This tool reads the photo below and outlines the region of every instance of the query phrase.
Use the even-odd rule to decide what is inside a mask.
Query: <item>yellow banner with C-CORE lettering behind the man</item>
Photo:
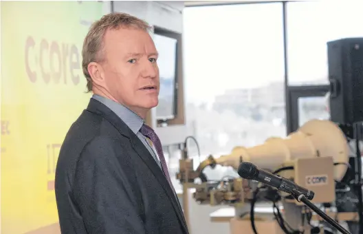
[[[53,234],[47,228],[57,226],[56,160],[90,97],[82,44],[105,4],[1,2],[2,234]]]

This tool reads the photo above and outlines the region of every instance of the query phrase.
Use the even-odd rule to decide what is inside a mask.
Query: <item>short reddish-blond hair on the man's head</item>
[[[88,92],[92,90],[92,78],[88,72],[88,65],[91,62],[99,63],[102,61],[104,34],[106,34],[107,30],[118,30],[119,28],[137,28],[148,31],[151,29],[151,26],[146,21],[126,13],[106,14],[91,25],[83,42],[82,49],[82,68],[83,74],[85,74],[87,79]]]

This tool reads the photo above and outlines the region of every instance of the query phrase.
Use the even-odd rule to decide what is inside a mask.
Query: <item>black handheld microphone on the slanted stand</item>
[[[298,196],[302,194],[305,195],[308,200],[312,200],[314,198],[313,191],[300,187],[291,180],[263,171],[251,162],[242,162],[239,165],[238,174],[241,178],[246,180],[257,180],[269,185],[270,187],[274,187],[280,191],[294,195],[295,198],[298,198]]]

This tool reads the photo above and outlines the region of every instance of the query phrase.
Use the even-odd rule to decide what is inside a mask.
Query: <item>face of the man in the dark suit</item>
[[[112,98],[137,114],[157,106],[157,50],[148,32],[128,28],[108,30],[103,52],[104,88]]]

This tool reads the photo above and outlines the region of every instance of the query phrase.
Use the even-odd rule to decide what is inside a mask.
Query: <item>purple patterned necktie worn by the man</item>
[[[153,145],[157,152],[157,156],[159,156],[159,160],[162,164],[162,169],[164,171],[166,180],[168,180],[170,187],[173,189],[173,184],[171,183],[171,180],[170,180],[168,167],[166,166],[164,152],[162,150],[162,143],[160,142],[159,137],[156,135],[155,131],[151,127],[148,127],[148,125],[145,125],[145,124],[142,125],[140,132],[142,133],[142,135],[149,138],[151,140],[151,142],[153,142]]]

